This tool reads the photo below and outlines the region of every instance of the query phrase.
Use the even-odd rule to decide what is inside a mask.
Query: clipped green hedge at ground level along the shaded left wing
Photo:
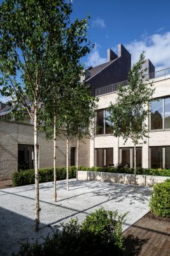
[[[56,168],[57,180],[66,179],[66,167]],[[69,167],[69,179],[76,177],[76,167]],[[34,170],[19,170],[12,174],[13,186],[24,186],[35,183]],[[53,168],[40,168],[39,169],[39,183],[53,181]]]

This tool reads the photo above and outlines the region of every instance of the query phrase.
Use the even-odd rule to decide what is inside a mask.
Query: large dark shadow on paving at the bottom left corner
[[[8,211],[0,207],[0,255],[8,256],[12,252],[18,252],[20,245],[29,241],[34,243],[36,239],[42,242],[43,237],[52,233],[52,228],[40,223],[41,232],[35,232],[34,220]]]

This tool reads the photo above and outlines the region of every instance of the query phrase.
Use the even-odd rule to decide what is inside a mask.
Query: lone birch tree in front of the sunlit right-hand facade
[[[136,145],[146,143],[148,125],[146,118],[150,114],[149,102],[154,92],[153,83],[146,79],[143,68],[145,54],[139,57],[128,74],[128,85],[118,86],[117,101],[110,104],[108,120],[111,123],[113,136],[128,139],[134,144],[134,184],[136,185]]]

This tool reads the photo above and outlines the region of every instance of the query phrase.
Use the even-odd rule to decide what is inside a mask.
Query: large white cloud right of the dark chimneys
[[[132,54],[132,63],[138,61],[139,54],[145,51],[146,58],[152,61],[156,70],[170,67],[170,32],[142,36],[141,40],[134,40],[125,47]]]

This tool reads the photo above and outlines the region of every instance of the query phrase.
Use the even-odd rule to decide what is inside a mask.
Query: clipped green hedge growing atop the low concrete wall
[[[84,167],[80,166],[78,170],[89,172],[111,172],[111,173],[129,173],[134,174],[134,168],[124,167]],[[153,175],[153,176],[167,176],[170,177],[170,169],[150,169],[150,168],[137,168],[136,174]]]

